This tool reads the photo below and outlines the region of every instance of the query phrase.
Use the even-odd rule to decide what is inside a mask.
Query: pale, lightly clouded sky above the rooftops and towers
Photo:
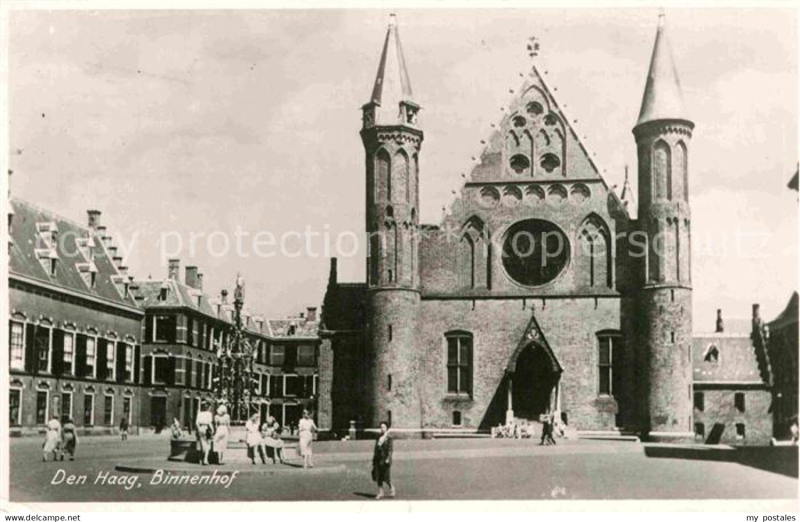
[[[422,104],[422,223],[438,223],[522,85],[531,36],[537,67],[607,182],[621,187],[626,165],[634,174],[631,128],[658,10],[396,12]],[[324,235],[332,254],[336,238],[352,251],[352,235],[363,237],[359,109],[389,13],[13,11],[11,191],[79,222],[101,210],[138,279],[165,277],[175,256],[200,267],[212,294],[241,272],[248,307],[263,315],[318,306]],[[694,329],[712,329],[717,308],[747,318],[751,303],[771,319],[798,286],[798,195],[786,188],[798,162],[796,12],[668,9],[666,20],[696,125]],[[252,243],[306,227],[318,236],[299,256]],[[224,238],[231,249],[219,255]],[[301,250],[303,239],[285,238],[291,254]],[[366,251],[342,251],[339,279],[363,281]]]

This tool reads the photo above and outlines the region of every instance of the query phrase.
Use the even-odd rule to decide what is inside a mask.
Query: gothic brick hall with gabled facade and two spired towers
[[[370,99],[366,283],[331,271],[324,417],[336,431],[572,428],[691,440],[687,159],[694,123],[659,20],[638,121],[638,218],[534,66],[439,225],[419,223],[420,106],[394,19]],[[325,375],[325,374],[328,375]],[[328,427],[326,426],[326,427]]]

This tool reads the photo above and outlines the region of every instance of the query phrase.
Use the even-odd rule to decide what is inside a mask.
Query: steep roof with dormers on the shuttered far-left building
[[[118,271],[97,231],[20,199],[11,199],[10,205],[14,211],[9,256],[12,277],[18,275],[78,294],[136,306],[133,297],[125,295],[127,276]],[[49,259],[57,259],[55,275],[50,274]],[[94,287],[90,283],[91,272]]]

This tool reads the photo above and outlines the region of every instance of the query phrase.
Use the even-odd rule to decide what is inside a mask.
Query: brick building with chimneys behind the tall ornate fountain
[[[142,423],[156,432],[174,419],[192,431],[201,404],[214,403],[217,348],[226,343],[234,326],[228,292],[206,294],[197,267],[187,266],[183,279],[179,271],[180,261],[170,259],[166,279],[137,283],[138,303],[146,314]],[[242,327],[257,352],[254,402],[262,418],[273,415],[286,425],[299,420],[302,408],[314,408],[317,325],[316,308],[287,319],[242,311]]]

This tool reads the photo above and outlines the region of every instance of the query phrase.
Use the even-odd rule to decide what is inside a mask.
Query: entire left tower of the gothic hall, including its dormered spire
[[[370,101],[362,107],[366,152],[366,428],[388,420],[421,427],[415,335],[419,319],[419,106],[390,15]]]

